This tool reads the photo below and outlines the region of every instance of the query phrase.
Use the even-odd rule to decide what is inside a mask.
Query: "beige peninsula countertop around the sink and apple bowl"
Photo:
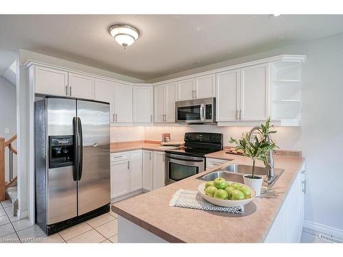
[[[223,153],[217,154],[223,156]],[[244,156],[226,154],[225,157],[232,160],[226,164],[251,165],[251,160]],[[178,189],[197,190],[198,185],[202,183],[196,179],[200,174],[121,201],[112,209],[121,217],[169,242],[263,242],[304,162],[303,158],[281,155],[275,155],[274,160],[275,167],[285,169],[285,172],[269,193],[256,197],[245,206],[243,215],[169,207],[171,195]],[[263,164],[257,162],[257,166]],[[201,175],[211,171],[213,169],[204,171]]]

